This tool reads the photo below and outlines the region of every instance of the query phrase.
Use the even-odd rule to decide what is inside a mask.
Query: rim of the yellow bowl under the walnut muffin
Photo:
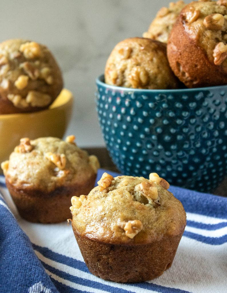
[[[56,100],[60,97],[60,96],[65,96],[65,100],[63,101],[63,103],[61,103],[58,106],[54,106],[54,103],[56,102]],[[44,110],[40,110],[40,111],[35,111],[35,112],[27,112],[27,113],[12,113],[12,114],[1,114],[0,115],[0,120],[5,120],[5,119],[16,119],[21,117],[21,115],[23,116],[29,116],[29,115],[35,115],[38,113],[45,113],[45,112],[49,112],[49,111],[54,111],[56,109],[62,108],[65,105],[67,105],[73,98],[73,94],[71,91],[69,91],[66,88],[62,88],[60,94],[57,96],[57,98],[52,102],[52,104],[50,104],[50,106],[47,109]]]

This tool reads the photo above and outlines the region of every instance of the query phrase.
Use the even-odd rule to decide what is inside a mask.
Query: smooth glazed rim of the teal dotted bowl
[[[227,84],[222,86],[207,86],[203,88],[175,88],[175,89],[141,89],[141,88],[125,88],[122,86],[112,86],[106,84],[104,82],[104,74],[101,74],[99,77],[96,78],[96,84],[99,86],[108,87],[110,89],[118,90],[118,91],[128,91],[128,92],[144,92],[144,93],[188,93],[188,92],[195,92],[195,91],[210,91],[210,90],[217,90],[225,88],[227,90]]]

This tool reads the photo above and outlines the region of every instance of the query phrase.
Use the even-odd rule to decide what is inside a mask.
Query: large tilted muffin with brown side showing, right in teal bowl
[[[167,55],[189,88],[227,84],[227,1],[185,6],[170,33]]]

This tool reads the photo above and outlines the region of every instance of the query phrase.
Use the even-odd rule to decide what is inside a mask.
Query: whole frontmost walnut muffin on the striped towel
[[[142,282],[170,268],[186,225],[184,208],[156,173],[104,173],[89,195],[72,197],[72,229],[90,272]]]

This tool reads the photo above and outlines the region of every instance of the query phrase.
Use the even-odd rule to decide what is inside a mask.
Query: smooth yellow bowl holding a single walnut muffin
[[[46,110],[0,115],[0,163],[9,159],[9,155],[22,137],[62,138],[70,121],[72,103],[72,93],[63,89]]]

